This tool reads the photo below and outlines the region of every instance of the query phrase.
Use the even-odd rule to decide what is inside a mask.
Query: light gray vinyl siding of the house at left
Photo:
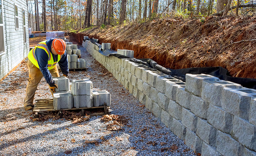
[[[17,66],[29,52],[28,10],[26,0],[2,0],[5,53],[0,55],[0,79]],[[14,5],[18,6],[19,29],[15,29]],[[26,39],[24,44],[23,14],[25,10]]]

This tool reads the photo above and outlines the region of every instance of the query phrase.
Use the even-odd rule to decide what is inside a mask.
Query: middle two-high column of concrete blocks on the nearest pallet
[[[88,79],[72,80],[71,93],[74,97],[74,107],[88,107],[93,106],[92,82]]]

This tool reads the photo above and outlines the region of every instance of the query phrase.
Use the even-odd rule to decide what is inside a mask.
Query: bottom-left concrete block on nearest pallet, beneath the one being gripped
[[[53,107],[55,110],[71,109],[73,107],[73,97],[70,94],[70,92],[54,93],[53,94]]]

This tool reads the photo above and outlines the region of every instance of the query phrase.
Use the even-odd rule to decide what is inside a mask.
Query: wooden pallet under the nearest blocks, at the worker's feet
[[[104,113],[89,114],[90,116],[97,116],[97,115],[108,114],[108,109],[109,109],[109,107],[107,107],[107,106],[99,106],[99,107],[91,107],[91,108],[81,107],[81,108],[55,110],[53,107],[53,99],[37,99],[35,101],[36,101],[36,103],[34,105],[33,112],[35,112],[36,118],[38,118],[38,113],[49,115],[50,113],[48,113],[48,112],[52,112],[52,111],[59,111],[57,116],[60,115],[60,117],[62,117],[62,110],[81,110],[82,115],[85,115],[85,109],[99,109],[100,108],[100,109],[104,110]]]

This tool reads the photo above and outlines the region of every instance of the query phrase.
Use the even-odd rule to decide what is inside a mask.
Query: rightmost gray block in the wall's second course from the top
[[[256,151],[256,126],[248,120],[234,116],[231,136],[245,147]]]

